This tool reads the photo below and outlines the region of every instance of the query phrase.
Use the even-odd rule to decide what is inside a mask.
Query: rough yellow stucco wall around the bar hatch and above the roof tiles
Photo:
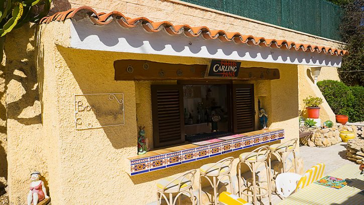
[[[119,10],[130,17],[147,16],[153,20],[167,19],[173,23],[191,25],[201,25],[203,22],[211,28],[267,38],[334,47],[340,45],[171,1],[68,2],[55,3],[57,5],[53,11],[87,4],[99,11]],[[137,125],[145,124],[147,135],[152,134],[149,82],[114,81],[113,61],[145,59],[207,64],[208,59],[67,48],[69,23],[67,20],[41,25],[35,37],[34,26],[25,26],[7,36],[7,76],[5,85],[2,83],[8,89],[8,184],[12,203],[24,204],[30,182],[29,173],[34,169],[40,170],[48,181],[52,204],[114,204],[115,201],[118,204],[145,204],[156,200],[155,184],[160,178],[199,168],[204,163],[217,161],[227,155],[238,157],[239,153],[230,153],[190,162],[187,166],[129,176],[127,172],[130,165],[126,157],[137,153]],[[256,97],[261,98],[262,106],[269,114],[269,127],[285,128],[285,140],[298,137],[298,109],[305,95],[300,90],[307,89],[306,85],[301,86],[301,82],[307,81],[302,78],[304,75],[301,71],[304,70],[298,69],[296,65],[273,63],[243,62],[242,66],[280,69],[280,79],[252,83],[256,85]],[[105,92],[124,92],[126,124],[75,130],[73,94]],[[2,96],[4,102],[4,92]],[[4,127],[4,122],[0,126]],[[6,135],[0,132],[3,133],[0,139],[3,140],[3,146],[6,144]],[[237,159],[234,160],[234,166],[236,163]],[[233,171],[232,174],[235,173]],[[197,188],[196,184],[194,188]]]

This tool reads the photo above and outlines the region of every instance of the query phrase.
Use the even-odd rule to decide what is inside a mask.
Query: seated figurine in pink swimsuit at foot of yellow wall
[[[47,195],[46,187],[44,182],[40,179],[41,173],[39,171],[34,171],[30,174],[32,182],[30,183],[30,191],[28,194],[28,205],[38,204],[45,198],[49,198]]]

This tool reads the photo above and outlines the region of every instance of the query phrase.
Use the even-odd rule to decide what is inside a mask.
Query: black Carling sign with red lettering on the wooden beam
[[[241,62],[212,59],[206,77],[237,78]]]

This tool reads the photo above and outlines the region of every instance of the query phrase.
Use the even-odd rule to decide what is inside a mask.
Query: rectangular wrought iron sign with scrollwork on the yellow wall
[[[75,94],[74,106],[76,129],[125,124],[124,93]]]

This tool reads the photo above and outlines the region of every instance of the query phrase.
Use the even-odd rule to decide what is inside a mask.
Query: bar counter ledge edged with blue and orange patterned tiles
[[[257,130],[216,138],[205,145],[183,144],[128,157],[130,174],[136,175],[196,161],[284,138],[284,129]]]

